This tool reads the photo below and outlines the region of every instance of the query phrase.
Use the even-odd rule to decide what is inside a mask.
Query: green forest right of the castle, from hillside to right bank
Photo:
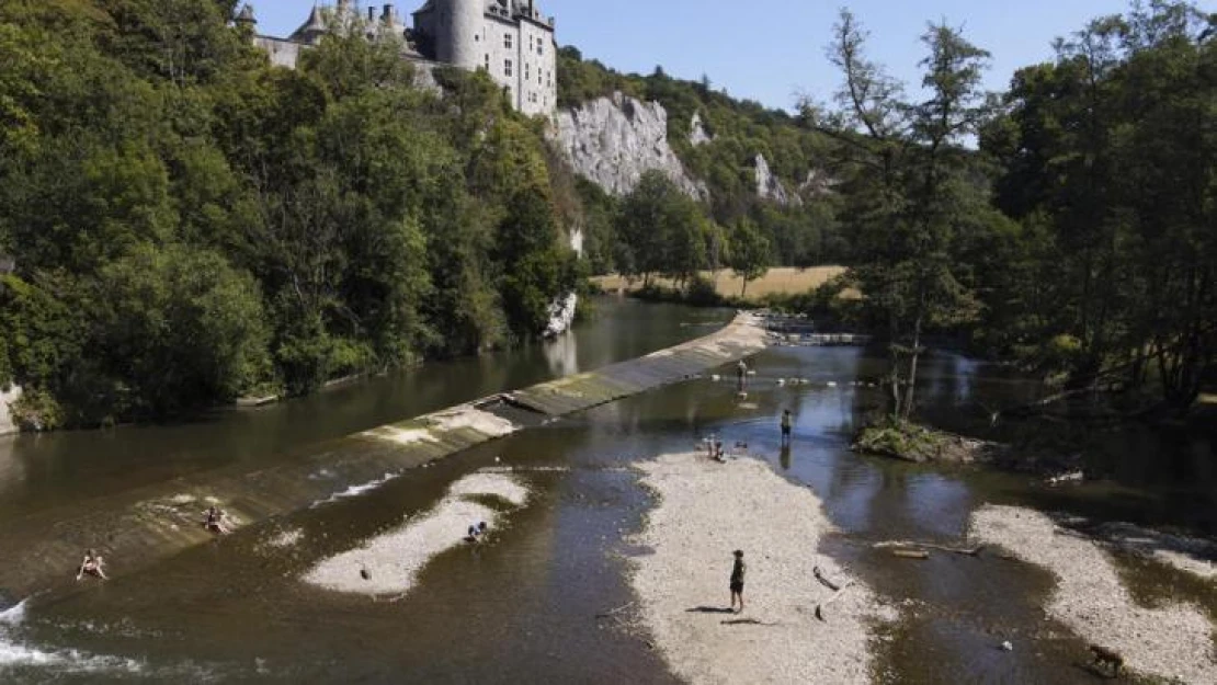
[[[690,290],[699,269],[849,266],[803,303],[847,308],[839,314],[892,341],[897,416],[915,406],[912,381],[936,335],[1066,389],[1101,382],[1184,410],[1217,383],[1215,32],[1217,15],[1190,2],[1134,2],[992,94],[981,85],[989,54],[946,21],[921,37],[921,83],[903,84],[867,56],[867,32],[845,11],[828,46],[841,88],[797,116],[733,101],[708,79],[622,75],[573,50],[561,99],[658,100],[713,196],[696,212],[650,178],[607,209],[590,198],[616,218],[601,221],[615,246],[604,263]],[[688,142],[695,112],[713,142]],[[759,201],[742,190],[757,151],[787,180],[821,172],[829,191],[801,207]],[[834,301],[846,287],[865,297]]]

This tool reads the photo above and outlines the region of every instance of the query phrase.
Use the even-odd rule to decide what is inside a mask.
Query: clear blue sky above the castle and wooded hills
[[[385,0],[377,2],[383,4]],[[871,55],[915,85],[927,21],[946,18],[993,54],[991,90],[1015,69],[1051,58],[1054,38],[1093,17],[1122,12],[1123,0],[537,0],[557,18],[557,40],[624,72],[699,79],[736,97],[789,108],[796,94],[828,100],[837,84],[824,49],[837,9],[848,6],[871,33]],[[332,0],[325,0],[331,4]],[[397,0],[413,12],[424,0]],[[286,35],[313,0],[252,0],[260,33]],[[368,2],[361,2],[366,6]],[[1205,0],[1201,6],[1215,6]]]

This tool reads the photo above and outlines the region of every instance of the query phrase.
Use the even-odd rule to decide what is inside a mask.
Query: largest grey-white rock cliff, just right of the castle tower
[[[658,102],[619,92],[584,102],[559,113],[555,137],[574,172],[610,195],[627,195],[652,169],[692,197],[708,195],[668,145],[668,113]]]

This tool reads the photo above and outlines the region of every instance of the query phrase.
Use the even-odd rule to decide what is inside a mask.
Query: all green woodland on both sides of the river
[[[1215,382],[1217,17],[1193,4],[1097,18],[1003,94],[952,24],[927,26],[902,84],[843,12],[840,92],[793,112],[562,49],[561,103],[661,102],[705,200],[660,173],[606,195],[486,74],[419,85],[391,41],[340,33],[271,68],[235,10],[0,6],[0,384],[24,387],[27,427],[514,344],[589,271],[696,293],[705,270],[846,265],[796,305],[892,341],[898,416],[940,335],[1174,409]],[[758,197],[757,155],[797,201]]]

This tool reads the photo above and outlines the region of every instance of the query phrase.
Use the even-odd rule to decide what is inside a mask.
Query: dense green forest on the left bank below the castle
[[[476,353],[576,287],[544,124],[489,78],[415,88],[398,45],[342,35],[271,68],[235,10],[0,5],[0,383],[24,386],[22,423]]]

